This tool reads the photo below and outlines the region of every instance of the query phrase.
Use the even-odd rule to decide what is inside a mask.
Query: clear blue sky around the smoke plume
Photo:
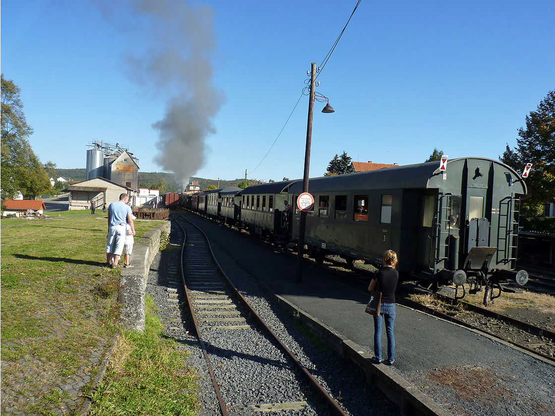
[[[171,31],[155,39],[152,16],[116,3],[1,3],[1,70],[22,90],[29,141],[43,163],[85,168],[87,144],[104,140],[129,146],[141,170],[164,170],[154,161],[162,146],[153,124],[188,86],[145,82],[128,57],[179,42]],[[210,83],[218,101],[204,163],[191,174],[302,177],[307,97],[256,166],[299,99],[310,63],[322,62],[356,1],[187,3],[213,16]],[[336,112],[315,105],[310,175],[322,175],[342,151],[401,165],[420,163],[435,147],[451,158],[497,159],[555,88],[553,22],[552,0],[362,0],[318,78],[317,92]]]

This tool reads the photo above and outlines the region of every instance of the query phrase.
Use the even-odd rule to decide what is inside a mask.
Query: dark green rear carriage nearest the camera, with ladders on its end
[[[293,201],[301,190],[300,181],[290,186]],[[502,278],[527,280],[524,271],[509,272],[516,261],[518,196],[526,185],[498,161],[454,159],[445,173],[432,162],[325,176],[311,179],[309,192],[315,204],[305,241],[317,259],[331,252],[379,265],[392,249],[405,275],[457,285],[468,277],[476,287],[486,285],[485,303]],[[294,239],[299,218],[297,210]]]

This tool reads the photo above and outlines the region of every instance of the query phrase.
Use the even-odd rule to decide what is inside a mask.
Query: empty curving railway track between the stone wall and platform
[[[186,236],[181,276],[221,414],[244,412],[247,402],[248,412],[346,415],[233,286],[204,233],[184,219],[174,221]],[[229,354],[233,365],[220,359]]]

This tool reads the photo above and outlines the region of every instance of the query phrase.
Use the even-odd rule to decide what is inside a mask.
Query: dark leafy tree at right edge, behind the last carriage
[[[542,203],[555,202],[555,90],[526,116],[526,129],[518,129],[516,147],[512,150],[507,144],[499,159],[518,173],[527,163],[533,163],[526,179],[528,195],[524,204],[528,212],[539,214]]]

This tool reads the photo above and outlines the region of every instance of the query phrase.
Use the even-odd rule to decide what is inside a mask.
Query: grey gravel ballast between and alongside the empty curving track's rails
[[[159,307],[158,314],[162,318],[166,336],[174,338],[179,348],[186,348],[190,352],[190,364],[197,369],[199,376],[199,414],[215,414],[219,413],[218,402],[198,339],[192,335],[194,328],[191,327],[191,319],[188,313],[175,307],[175,294],[179,303],[186,300],[176,267],[179,261],[179,235],[178,229],[174,228],[170,250],[155,257],[150,269],[147,293]],[[326,386],[347,413],[398,414],[395,405],[377,389],[365,383],[364,374],[359,368],[342,361],[324,346],[311,343],[305,329],[295,322],[293,316],[285,314],[275,305],[258,283],[237,266],[232,258],[217,246],[213,248],[221,266],[243,296],[266,324],[280,334],[281,341]],[[170,296],[169,293],[174,295]],[[247,317],[243,310],[241,316]],[[184,323],[180,322],[181,319]],[[273,342],[268,341],[261,329],[254,327],[203,331],[203,338],[230,414],[262,414],[260,410],[263,409],[256,406],[274,403],[292,403],[296,409],[264,414],[330,414],[322,400],[307,386],[299,371],[292,369],[289,359],[285,358]]]

